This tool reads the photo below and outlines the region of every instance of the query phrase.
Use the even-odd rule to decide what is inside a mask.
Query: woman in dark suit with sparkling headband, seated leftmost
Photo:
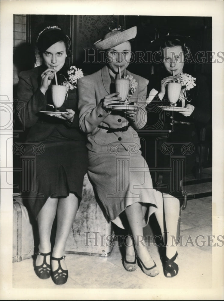
[[[56,83],[55,70],[58,85],[68,78],[66,58],[70,44],[69,37],[57,25],[44,27],[37,37],[43,64],[21,72],[18,84],[18,97],[23,102],[20,121],[29,128],[25,154],[32,155],[34,144],[41,149],[35,157],[35,172],[30,180],[34,189],[24,193],[38,223],[35,272],[41,279],[52,276],[55,284],[64,284],[68,278],[63,254],[81,201],[87,151],[78,125],[76,88],[68,90],[68,97],[60,108],[69,114],[62,114],[59,119],[54,112],[49,116],[39,111],[52,108],[49,105],[53,105],[51,85]],[[57,230],[52,248],[50,237],[56,215]]]

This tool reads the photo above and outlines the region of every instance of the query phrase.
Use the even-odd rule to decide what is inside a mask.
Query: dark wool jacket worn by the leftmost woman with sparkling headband
[[[20,108],[19,118],[25,127],[30,128],[27,141],[41,141],[51,135],[55,129],[66,138],[84,140],[84,135],[79,129],[78,124],[76,88],[73,90],[69,89],[68,98],[60,108],[61,111],[66,111],[66,109],[75,111],[72,123],[57,117],[45,115],[44,113],[39,113],[39,111],[49,110],[49,107],[46,107],[47,104],[53,104],[51,85],[45,95],[39,88],[41,84],[41,73],[46,69],[47,67],[45,65],[41,65],[28,71],[22,71],[19,74],[18,97],[20,102],[23,103]],[[60,74],[67,75],[65,67],[57,72],[58,84],[65,81],[65,78]],[[52,84],[54,84],[54,79],[52,80]]]

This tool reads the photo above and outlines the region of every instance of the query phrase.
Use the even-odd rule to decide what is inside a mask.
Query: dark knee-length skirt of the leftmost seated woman
[[[35,218],[49,197],[63,198],[74,193],[80,202],[88,167],[85,141],[68,139],[55,130],[39,142],[44,145],[44,151],[35,155],[30,189],[23,193]],[[32,144],[24,153],[24,156],[29,155],[33,155]]]

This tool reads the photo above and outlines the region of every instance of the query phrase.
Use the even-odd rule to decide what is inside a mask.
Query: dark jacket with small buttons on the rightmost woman
[[[173,120],[191,123],[191,126],[185,127],[185,135],[187,135],[187,132],[189,134],[190,131],[194,130],[195,124],[206,124],[210,120],[210,95],[208,91],[206,78],[201,74],[197,74],[194,77],[196,78],[196,86],[190,89],[189,91],[186,91],[188,101],[185,101],[185,106],[187,104],[191,104],[195,107],[192,114],[186,117],[183,116],[183,114],[176,111],[163,111],[161,108],[159,108],[159,106],[166,107],[167,105],[169,105],[167,92],[165,93],[164,98],[162,100],[160,100],[158,98],[158,95],[156,95],[151,101],[151,103],[147,106],[149,129],[158,131],[158,134],[160,131],[165,131],[169,133],[169,140],[175,138],[176,135],[179,136],[179,134],[181,134],[181,137],[179,136],[178,139],[185,139],[183,137],[183,127],[181,127],[181,133],[178,133],[180,127],[171,124]],[[153,74],[149,79],[148,91],[150,92],[152,88],[154,88],[157,91],[160,91],[162,78],[163,77],[161,76],[159,77]],[[178,101],[176,105],[177,107],[181,107],[181,101]]]

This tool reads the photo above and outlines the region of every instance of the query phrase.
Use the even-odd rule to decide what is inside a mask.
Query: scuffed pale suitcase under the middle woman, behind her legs
[[[107,257],[112,252],[113,241],[112,223],[95,197],[86,174],[82,201],[66,242],[65,253]]]

